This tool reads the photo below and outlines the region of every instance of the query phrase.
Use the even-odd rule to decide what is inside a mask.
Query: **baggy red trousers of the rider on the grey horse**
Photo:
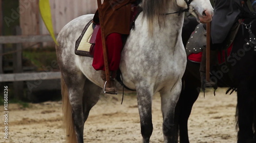
[[[119,69],[122,46],[123,45],[121,34],[112,33],[106,37],[106,49],[108,51],[110,71],[115,71]],[[95,49],[92,66],[95,70],[105,70],[100,29],[97,33],[94,48]]]

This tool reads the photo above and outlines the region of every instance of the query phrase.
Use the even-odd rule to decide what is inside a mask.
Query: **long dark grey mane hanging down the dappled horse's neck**
[[[153,21],[158,20],[159,26],[164,24],[167,9],[171,0],[142,0],[143,16],[147,18],[150,31],[152,32]]]

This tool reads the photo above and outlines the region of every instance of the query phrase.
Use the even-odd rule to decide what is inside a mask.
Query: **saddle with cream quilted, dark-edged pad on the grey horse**
[[[132,6],[132,16],[131,16],[131,30],[135,28],[135,20],[142,11],[139,6]],[[93,20],[90,20],[84,27],[81,35],[75,44],[75,54],[82,56],[90,56],[93,58],[94,46],[96,41],[96,36],[99,31],[100,25],[94,24]],[[127,36],[122,36],[122,42],[125,44]],[[124,45],[123,44],[123,45]]]

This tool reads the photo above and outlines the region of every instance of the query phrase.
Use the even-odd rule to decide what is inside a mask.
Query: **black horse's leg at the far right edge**
[[[249,86],[241,82],[238,88],[238,143],[252,143],[253,139],[253,92]]]

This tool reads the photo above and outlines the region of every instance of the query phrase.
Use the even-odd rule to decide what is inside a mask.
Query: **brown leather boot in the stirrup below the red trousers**
[[[105,73],[105,71],[101,71],[100,77],[104,81],[104,85],[105,85],[104,93],[106,93],[106,94],[117,94],[116,81],[114,79],[114,78],[116,78],[116,72],[117,71],[110,71],[110,87],[107,87],[108,84],[105,85],[105,83],[106,83],[106,73]],[[104,85],[103,85],[103,87],[104,87]]]

